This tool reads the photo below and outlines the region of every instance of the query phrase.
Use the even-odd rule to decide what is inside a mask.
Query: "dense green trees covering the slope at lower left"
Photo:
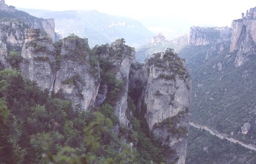
[[[0,107],[0,159],[5,163],[133,163],[135,159],[133,148],[112,131],[117,117],[108,104],[100,107],[103,114],[84,112],[68,100],[49,98],[48,92],[19,72],[3,70]]]

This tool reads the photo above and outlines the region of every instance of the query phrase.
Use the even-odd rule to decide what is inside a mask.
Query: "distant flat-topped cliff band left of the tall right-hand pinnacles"
[[[188,45],[213,45],[230,41],[231,28],[207,28],[193,26],[190,28]]]

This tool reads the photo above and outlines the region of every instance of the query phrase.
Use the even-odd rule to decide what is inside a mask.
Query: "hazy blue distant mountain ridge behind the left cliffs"
[[[139,47],[154,35],[137,20],[112,16],[96,10],[20,10],[39,18],[54,18],[56,33],[62,37],[66,37],[70,33],[86,37],[89,39],[90,47],[111,43],[119,38],[125,38],[127,44]]]

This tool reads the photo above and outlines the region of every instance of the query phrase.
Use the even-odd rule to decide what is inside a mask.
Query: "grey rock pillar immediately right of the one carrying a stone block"
[[[54,93],[63,94],[83,110],[93,107],[100,85],[99,70],[89,62],[87,39],[65,38],[56,44],[56,49]]]

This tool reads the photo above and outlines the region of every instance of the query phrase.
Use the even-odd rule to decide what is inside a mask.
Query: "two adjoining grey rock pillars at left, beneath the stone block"
[[[98,92],[99,70],[91,66],[86,39],[65,38],[53,44],[49,37],[24,44],[20,70],[51,94],[59,94],[87,110],[94,105]]]

